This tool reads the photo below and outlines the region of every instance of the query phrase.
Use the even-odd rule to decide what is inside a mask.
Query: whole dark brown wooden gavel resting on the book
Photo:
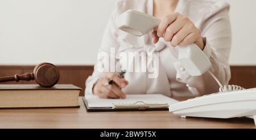
[[[10,82],[19,80],[36,80],[41,87],[52,87],[60,78],[60,72],[57,67],[51,63],[40,63],[36,65],[33,73],[26,73],[23,75],[15,74],[10,77],[0,77],[0,82]]]

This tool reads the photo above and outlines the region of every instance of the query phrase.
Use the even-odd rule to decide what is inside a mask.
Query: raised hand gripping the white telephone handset
[[[179,13],[167,15],[160,22],[157,30],[151,31],[153,43],[158,43],[160,37],[171,42],[172,46],[184,46],[195,43],[201,50],[204,49],[203,37],[199,28],[186,16]]]

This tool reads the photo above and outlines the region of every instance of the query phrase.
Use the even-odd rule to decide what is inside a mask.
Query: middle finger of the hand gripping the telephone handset
[[[172,40],[172,37],[174,37],[174,35],[180,31],[184,24],[185,23],[182,20],[175,20],[174,23],[170,24],[170,26],[167,27],[166,32],[164,33],[164,40],[170,42]]]

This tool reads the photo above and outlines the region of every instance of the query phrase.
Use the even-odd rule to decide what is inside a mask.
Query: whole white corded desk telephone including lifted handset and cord
[[[127,10],[119,16],[118,28],[135,36],[143,36],[158,27],[160,19],[143,12]],[[256,125],[256,88],[245,90],[240,86],[222,86],[209,71],[211,63],[203,51],[191,44],[179,47],[179,62],[192,76],[208,72],[220,85],[220,92],[170,105],[170,112],[181,117],[254,118]]]

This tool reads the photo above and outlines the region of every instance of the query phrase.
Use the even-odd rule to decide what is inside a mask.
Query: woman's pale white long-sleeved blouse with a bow
[[[110,54],[110,48],[115,49],[115,55],[121,52],[159,52],[158,77],[150,79],[147,78],[148,72],[128,72],[125,79],[129,84],[122,90],[126,94],[163,94],[170,97],[199,96],[218,92],[219,86],[209,73],[191,77],[177,61],[177,48],[171,44],[165,45],[163,39],[154,44],[150,35],[137,37],[118,30],[117,19],[120,14],[132,9],[153,15],[153,1],[118,0],[106,26],[99,53]],[[203,52],[212,63],[210,71],[222,84],[228,84],[228,60],[232,41],[229,5],[224,2],[179,0],[175,12],[187,16],[201,30],[201,36],[206,38]],[[86,80],[85,94],[92,94],[93,85],[101,75],[96,64],[92,76]]]

